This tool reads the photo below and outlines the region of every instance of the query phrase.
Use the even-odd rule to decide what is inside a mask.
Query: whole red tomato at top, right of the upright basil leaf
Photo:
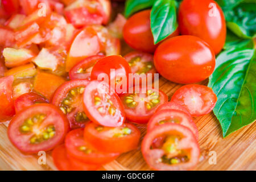
[[[182,35],[194,35],[203,39],[216,55],[221,51],[226,40],[226,23],[217,2],[184,0],[179,7],[178,18]]]

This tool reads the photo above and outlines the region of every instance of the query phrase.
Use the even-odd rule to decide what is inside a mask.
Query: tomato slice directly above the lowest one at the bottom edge
[[[72,158],[89,164],[105,164],[119,156],[119,153],[105,153],[96,150],[86,141],[86,138],[86,136],[84,137],[84,129],[76,129],[68,133],[65,138],[65,146]]]

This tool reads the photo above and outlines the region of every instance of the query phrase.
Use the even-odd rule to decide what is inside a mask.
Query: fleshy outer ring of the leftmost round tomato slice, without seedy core
[[[33,117],[35,114],[46,114],[46,119],[41,123],[40,127],[46,127],[52,124],[55,127],[55,135],[49,140],[32,144],[30,137],[32,134],[23,134],[20,127],[23,125],[24,120],[28,117]],[[47,126],[48,126],[47,125]],[[68,120],[65,115],[56,107],[51,104],[36,104],[27,107],[22,112],[16,114],[9,124],[7,134],[13,145],[20,151],[26,154],[36,154],[39,151],[49,151],[55,146],[63,142],[65,135],[68,132]],[[33,133],[33,132],[31,132]]]

